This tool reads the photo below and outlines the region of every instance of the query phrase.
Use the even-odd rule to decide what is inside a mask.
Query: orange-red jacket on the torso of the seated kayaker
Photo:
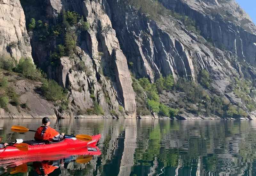
[[[35,140],[48,140],[52,141],[54,136],[60,135],[59,132],[50,126],[40,126],[35,133]]]

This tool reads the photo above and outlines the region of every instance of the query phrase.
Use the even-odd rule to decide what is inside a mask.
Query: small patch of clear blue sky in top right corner
[[[256,24],[256,0],[236,0],[236,2],[250,15]]]

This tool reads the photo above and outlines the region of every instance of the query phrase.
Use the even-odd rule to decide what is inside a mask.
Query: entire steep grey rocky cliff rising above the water
[[[154,15],[156,6],[147,12],[138,0],[31,1],[0,1],[4,14],[0,52],[16,60],[32,56],[49,78],[67,88],[68,113],[57,113],[58,117],[84,117],[88,109],[100,106],[107,116],[135,118],[141,102],[135,98],[138,93],[132,87],[132,73],[134,78],[146,77],[151,83],[171,74],[175,82],[185,78],[202,84],[209,98],[205,95],[205,100],[185,106],[180,105],[180,100],[186,98],[180,90],[159,93],[160,103],[183,109],[182,119],[220,118],[226,112],[230,115],[231,106],[237,109],[232,113],[239,118],[255,118],[256,28],[235,1],[148,1],[162,8],[163,12],[156,10]],[[52,53],[67,34],[48,37],[42,34],[43,29],[27,32],[25,24],[28,27],[34,18],[54,32],[60,28],[65,11],[84,17],[89,28],[81,31],[81,20],[71,26],[77,37],[74,52],[53,63]],[[79,69],[81,63],[83,69]],[[204,71],[209,73],[210,86],[203,84]],[[213,104],[218,103],[214,97],[221,100],[221,112],[215,113]]]

